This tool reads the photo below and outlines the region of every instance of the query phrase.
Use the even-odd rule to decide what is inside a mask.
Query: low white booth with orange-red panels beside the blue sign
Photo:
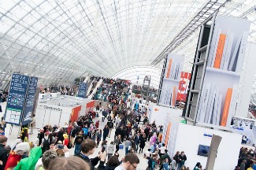
[[[76,121],[95,107],[95,101],[74,96],[61,96],[49,100],[39,100],[35,112],[35,127],[41,128],[46,124],[64,127],[69,120]]]

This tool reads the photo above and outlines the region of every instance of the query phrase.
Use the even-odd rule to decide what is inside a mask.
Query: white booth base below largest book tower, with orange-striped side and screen
[[[217,150],[217,157],[213,169],[233,169],[237,164],[242,135],[218,131],[206,127],[182,124],[182,117],[173,116],[169,113],[165,118],[162,141],[165,143],[170,156],[176,151],[184,151],[187,156],[185,165],[194,167],[200,162],[206,167],[207,156],[213,134],[222,137],[221,144]]]

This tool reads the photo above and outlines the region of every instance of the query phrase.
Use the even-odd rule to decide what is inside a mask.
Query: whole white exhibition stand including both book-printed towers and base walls
[[[200,162],[206,167],[208,153],[213,152],[210,147],[213,135],[221,137],[213,169],[234,169],[239,159],[242,134],[250,138],[250,144],[254,143],[254,120],[243,118],[247,117],[248,89],[251,89],[254,78],[251,70],[256,64],[256,45],[247,42],[249,29],[248,20],[216,15],[202,24],[191,83],[189,91],[185,92],[185,121],[173,114],[174,109],[169,109],[175,104],[176,86],[166,86],[165,83],[175,82],[176,76],[180,77],[180,70],[173,65],[173,54],[165,57],[158,104],[166,108],[149,105],[148,116],[150,123],[155,120],[156,124],[164,124],[162,142],[171,157],[176,151],[184,151],[186,166],[194,167]]]

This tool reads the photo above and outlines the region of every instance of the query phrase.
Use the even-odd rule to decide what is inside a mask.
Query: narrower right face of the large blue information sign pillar
[[[38,82],[37,77],[33,77],[33,76],[30,77],[22,125],[29,124],[32,119],[32,110],[35,102],[35,92],[36,92],[37,82]]]

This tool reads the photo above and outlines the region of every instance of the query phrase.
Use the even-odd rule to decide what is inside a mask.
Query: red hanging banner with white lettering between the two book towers
[[[187,90],[188,90],[190,79],[191,79],[191,73],[181,72],[177,101],[186,102]]]

